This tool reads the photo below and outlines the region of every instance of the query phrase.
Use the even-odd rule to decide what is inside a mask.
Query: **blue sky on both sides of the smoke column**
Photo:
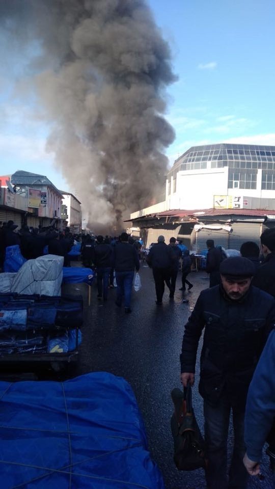
[[[170,43],[178,81],[167,90],[166,117],[176,131],[167,155],[173,163],[195,144],[275,145],[273,0],[148,0]],[[5,56],[9,52],[10,58]],[[47,127],[33,100],[13,80],[24,73],[18,46],[0,36],[0,174],[41,173],[59,188],[64,176],[45,151]]]

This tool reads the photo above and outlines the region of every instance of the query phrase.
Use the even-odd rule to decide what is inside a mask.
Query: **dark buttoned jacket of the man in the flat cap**
[[[275,323],[273,297],[251,287],[231,301],[219,286],[203,290],[188,319],[182,341],[181,372],[195,372],[199,339],[204,331],[199,392],[215,404],[226,393],[244,408],[253,372]]]

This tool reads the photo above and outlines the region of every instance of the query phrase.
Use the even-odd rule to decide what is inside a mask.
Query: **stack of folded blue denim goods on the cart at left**
[[[0,294],[0,357],[73,350],[82,309],[81,296]]]

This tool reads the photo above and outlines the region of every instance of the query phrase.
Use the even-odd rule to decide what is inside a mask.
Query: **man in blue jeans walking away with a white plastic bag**
[[[113,265],[116,273],[117,281],[117,299],[118,307],[122,304],[122,296],[124,294],[125,312],[131,312],[131,294],[134,270],[140,269],[140,260],[137,251],[133,244],[128,242],[129,236],[127,233],[122,233],[120,242],[114,247]]]

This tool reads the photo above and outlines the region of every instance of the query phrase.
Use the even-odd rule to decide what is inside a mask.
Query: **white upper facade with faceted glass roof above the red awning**
[[[271,210],[275,209],[274,190],[275,146],[194,146],[168,173],[166,200],[132,213],[131,219],[172,209]]]

